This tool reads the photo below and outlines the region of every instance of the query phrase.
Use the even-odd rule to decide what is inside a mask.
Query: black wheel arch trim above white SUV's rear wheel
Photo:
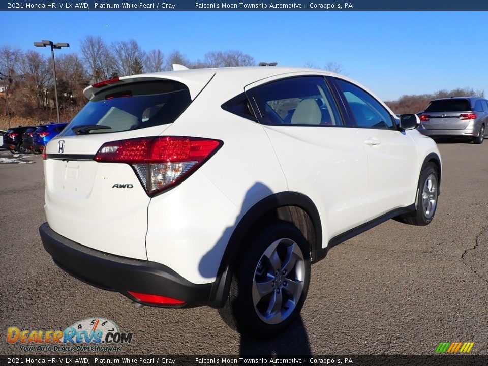
[[[294,224],[310,243],[311,258],[321,259],[322,226],[319,212],[313,201],[298,192],[280,192],[265,197],[252,206],[235,227],[212,284],[209,306],[221,308],[229,295],[234,265],[238,254],[244,250],[243,243],[253,232],[266,224],[283,220]]]

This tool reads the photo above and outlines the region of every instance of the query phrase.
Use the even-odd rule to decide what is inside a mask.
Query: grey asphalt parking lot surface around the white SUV
[[[136,308],[66,275],[39,238],[42,158],[0,151],[0,354],[29,354],[5,342],[8,327],[64,329],[91,317],[133,332],[121,354],[430,355],[440,342],[488,354],[488,143],[439,149],[433,223],[390,220],[334,247],[312,266],[301,321],[261,341],[241,338],[214,309]]]

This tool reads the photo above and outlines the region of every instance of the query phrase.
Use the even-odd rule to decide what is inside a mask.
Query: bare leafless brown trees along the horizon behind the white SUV
[[[172,64],[189,68],[253,66],[256,60],[238,50],[210,51],[203,60],[190,60],[179,51],[144,50],[136,40],[107,43],[100,36],[79,41],[79,53],[63,49],[55,54],[59,112],[69,121],[86,104],[83,89],[117,76],[172,69]],[[307,62],[306,67],[317,67]],[[344,74],[342,66],[329,62],[323,69]],[[347,75],[347,74],[346,74]],[[386,104],[398,114],[423,111],[430,100],[456,96],[484,96],[470,88],[439,90],[433,94],[405,95]],[[37,125],[56,119],[51,55],[37,50],[0,47],[0,129]]]

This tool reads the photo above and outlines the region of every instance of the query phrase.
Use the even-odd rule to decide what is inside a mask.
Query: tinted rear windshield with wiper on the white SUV
[[[190,105],[185,84],[164,80],[117,85],[99,92],[73,118],[60,136],[76,133],[73,128],[97,126],[81,133],[111,133],[173,123]]]

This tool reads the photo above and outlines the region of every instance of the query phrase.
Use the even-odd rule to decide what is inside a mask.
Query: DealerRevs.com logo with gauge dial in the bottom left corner
[[[87,318],[65,330],[7,329],[7,342],[18,344],[21,352],[100,352],[119,351],[132,342],[132,332],[121,332],[113,321]]]

